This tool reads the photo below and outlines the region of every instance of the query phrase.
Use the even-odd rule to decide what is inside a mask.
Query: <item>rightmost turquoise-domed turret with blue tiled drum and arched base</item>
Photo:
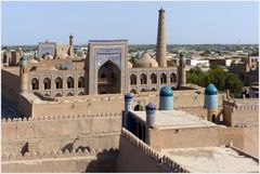
[[[212,83],[205,89],[204,106],[208,110],[208,121],[218,122],[218,89]]]

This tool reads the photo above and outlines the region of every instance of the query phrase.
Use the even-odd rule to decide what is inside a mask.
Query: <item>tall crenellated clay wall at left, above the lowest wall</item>
[[[28,151],[28,144],[34,142],[41,151],[79,147],[117,148],[121,115],[3,119],[1,126],[1,146],[5,152]]]

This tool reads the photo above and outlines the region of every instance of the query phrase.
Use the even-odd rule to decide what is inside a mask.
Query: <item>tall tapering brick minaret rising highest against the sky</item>
[[[159,67],[167,67],[165,10],[159,10],[156,61]]]

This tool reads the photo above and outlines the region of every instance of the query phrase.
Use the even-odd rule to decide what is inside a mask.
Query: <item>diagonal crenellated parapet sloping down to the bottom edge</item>
[[[142,152],[144,152],[146,156],[152,158],[153,160],[157,161],[161,166],[170,170],[171,172],[178,172],[178,173],[190,173],[186,169],[178,164],[177,162],[172,161],[167,156],[161,156],[158,151],[153,149],[151,146],[139,139],[136,136],[134,136],[131,132],[127,131],[122,128],[121,135],[126,137],[132,145],[138,147]]]

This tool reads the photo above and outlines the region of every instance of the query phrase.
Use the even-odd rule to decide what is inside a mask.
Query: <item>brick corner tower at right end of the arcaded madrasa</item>
[[[180,53],[180,62],[179,62],[179,88],[186,85],[186,53]]]

